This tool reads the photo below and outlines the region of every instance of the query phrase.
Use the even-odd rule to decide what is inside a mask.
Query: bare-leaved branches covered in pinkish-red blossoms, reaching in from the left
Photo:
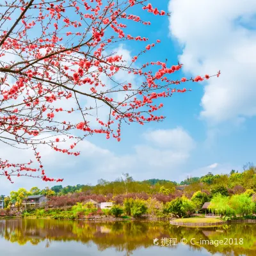
[[[10,163],[0,156],[0,175],[11,182],[12,176],[60,182],[45,174],[40,145],[79,156],[76,145],[88,135],[120,141],[124,122],[162,121],[158,99],[186,92],[182,84],[187,81],[209,79],[205,75],[173,81],[182,64],[167,60],[139,64],[141,55],[161,40],[134,34],[134,24],[150,29],[150,21],[132,15],[133,10],[140,8],[152,17],[169,15],[146,2],[1,1],[0,140],[2,145],[33,150],[35,159]],[[113,49],[129,40],[141,44],[141,52],[126,61]],[[134,83],[118,81],[118,74],[125,74],[127,81],[135,77]],[[108,108],[104,118],[97,114],[100,108]]]

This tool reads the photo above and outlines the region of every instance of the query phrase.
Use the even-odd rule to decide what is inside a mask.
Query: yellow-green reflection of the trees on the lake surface
[[[223,255],[255,255],[256,225],[233,224],[214,228],[186,228],[172,226],[164,221],[118,221],[89,222],[63,220],[5,220],[0,221],[0,237],[19,243],[38,244],[45,241],[49,247],[52,241],[79,241],[83,244],[95,243],[98,250],[115,248],[118,252],[131,255],[138,248],[148,248],[153,245],[153,239],[162,237],[182,238],[190,241],[200,239],[221,240],[225,238],[243,238],[242,245],[213,246],[210,244],[188,244],[191,250],[198,252],[205,248],[208,252],[223,253]]]

